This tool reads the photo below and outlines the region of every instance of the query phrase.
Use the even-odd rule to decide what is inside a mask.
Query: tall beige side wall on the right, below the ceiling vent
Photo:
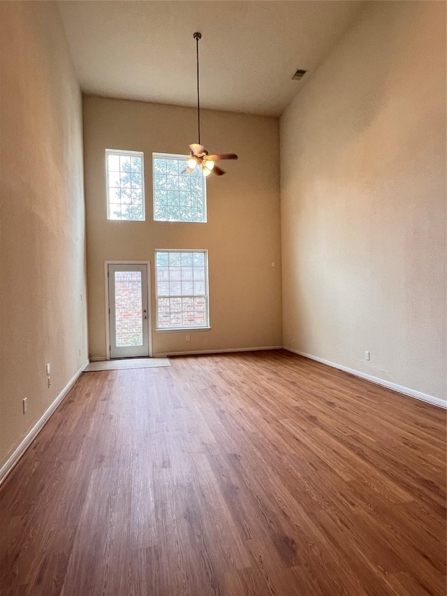
[[[367,7],[281,117],[281,166],[284,344],[445,399],[446,4]]]

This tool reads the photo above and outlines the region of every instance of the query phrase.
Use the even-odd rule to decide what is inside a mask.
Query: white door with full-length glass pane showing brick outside
[[[149,356],[147,265],[109,263],[110,358]]]

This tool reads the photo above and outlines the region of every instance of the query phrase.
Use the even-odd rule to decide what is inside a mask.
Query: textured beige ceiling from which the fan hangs
[[[362,1],[59,1],[82,90],[280,115],[349,29]],[[309,71],[291,80],[297,68]]]

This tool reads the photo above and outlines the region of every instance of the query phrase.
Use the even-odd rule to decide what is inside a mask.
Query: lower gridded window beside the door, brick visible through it
[[[206,250],[156,250],[156,328],[210,326]]]

